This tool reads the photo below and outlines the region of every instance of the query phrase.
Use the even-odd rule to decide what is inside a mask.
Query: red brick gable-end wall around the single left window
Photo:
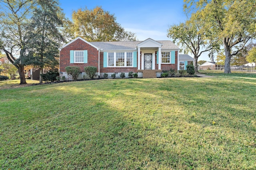
[[[88,50],[88,62],[70,63],[70,50]],[[98,50],[81,39],[77,39],[60,51],[60,72],[66,72],[66,66],[78,66],[81,72],[84,72],[85,66],[96,66],[98,72]]]

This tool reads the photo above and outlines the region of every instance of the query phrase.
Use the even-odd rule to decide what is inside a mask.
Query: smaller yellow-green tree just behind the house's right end
[[[168,29],[167,36],[184,49],[184,53],[189,51],[194,55],[194,68],[198,72],[198,57],[206,51],[218,48],[215,39],[207,39],[207,34],[200,31],[204,23],[198,20],[196,14],[192,14],[190,20],[179,25],[172,25]]]

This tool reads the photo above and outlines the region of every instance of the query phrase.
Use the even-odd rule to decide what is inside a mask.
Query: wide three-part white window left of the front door
[[[108,52],[109,67],[132,67],[133,52]]]

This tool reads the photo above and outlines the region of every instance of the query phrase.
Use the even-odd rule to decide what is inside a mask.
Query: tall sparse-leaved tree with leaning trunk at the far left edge
[[[35,4],[34,0],[0,0],[0,50],[18,69],[20,84],[26,84],[23,38],[27,31],[25,27],[29,15]]]

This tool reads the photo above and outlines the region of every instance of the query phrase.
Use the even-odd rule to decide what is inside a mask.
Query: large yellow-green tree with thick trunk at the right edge
[[[224,73],[231,73],[230,61],[256,37],[256,0],[186,0],[186,8],[196,8],[202,31],[222,41],[225,51]],[[209,34],[211,32],[211,34]]]

